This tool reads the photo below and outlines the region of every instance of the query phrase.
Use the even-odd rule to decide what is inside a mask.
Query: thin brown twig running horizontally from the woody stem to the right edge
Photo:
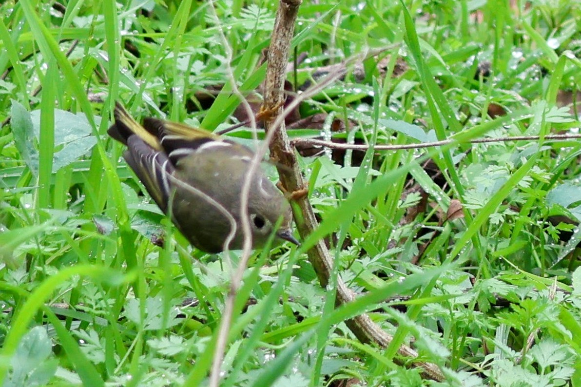
[[[487,142],[508,142],[508,141],[535,141],[540,139],[540,136],[512,136],[512,137],[494,137],[494,138],[477,138],[466,141],[467,144],[485,144]],[[543,136],[545,140],[557,141],[581,138],[581,134],[551,134]],[[453,144],[460,141],[451,138],[442,141],[424,142],[422,144],[405,144],[405,145],[375,145],[375,150],[401,150],[401,149],[417,149],[417,148],[432,148],[434,146],[442,146]],[[294,145],[314,145],[324,146],[329,149],[351,149],[351,150],[367,150],[369,145],[365,144],[342,144],[338,142],[325,141],[317,138],[296,138],[292,140]]]

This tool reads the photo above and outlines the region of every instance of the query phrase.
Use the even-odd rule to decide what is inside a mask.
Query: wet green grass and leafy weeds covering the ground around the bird
[[[276,8],[0,5],[3,385],[207,384],[238,253],[192,249],[106,128],[115,101],[236,123],[231,81],[243,93],[263,81]],[[437,385],[401,344],[444,385],[579,385],[581,146],[544,137],[579,128],[563,101],[577,98],[580,16],[575,2],[303,3],[293,48],[306,56],[289,81],[342,63],[346,75],[300,104],[323,115],[290,134],[370,150],[300,157],[320,227],[301,249],[254,253],[221,385]],[[470,143],[517,135],[540,139]],[[338,309],[302,253],[320,238],[357,292]],[[343,321],[363,312],[392,345],[354,338]]]

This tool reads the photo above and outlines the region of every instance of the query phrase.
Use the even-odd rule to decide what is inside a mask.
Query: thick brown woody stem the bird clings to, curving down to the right
[[[267,137],[271,138],[270,156],[277,165],[282,187],[287,192],[297,192],[306,187],[297,163],[296,154],[292,146],[290,146],[284,118],[282,117],[282,107],[285,101],[284,82],[290,52],[290,40],[295,31],[295,22],[301,1],[281,0],[279,2],[270,47],[268,48],[266,87],[264,89],[264,104],[262,107],[263,112],[267,113],[264,114],[266,117],[264,126],[268,132]],[[295,201],[301,212],[299,216],[295,214],[295,223],[301,238],[304,239],[318,226],[318,223],[307,195],[296,198]],[[307,254],[321,286],[326,287],[331,276],[333,264],[327,245],[320,240]],[[353,292],[347,288],[340,278],[337,279],[336,289],[335,303],[338,306],[354,299]],[[393,341],[393,337],[378,327],[367,314],[347,320],[346,324],[361,342],[375,342],[387,347]],[[406,345],[400,346],[398,352],[405,357],[414,358],[418,356],[415,350]],[[416,361],[414,364],[424,368],[423,374],[425,378],[437,381],[443,380],[442,372],[435,364],[420,361]]]

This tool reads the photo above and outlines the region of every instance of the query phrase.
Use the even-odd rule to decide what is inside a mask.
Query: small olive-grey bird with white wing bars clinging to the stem
[[[120,103],[114,116],[107,132],[127,145],[127,164],[188,241],[209,253],[241,249],[241,192],[252,150],[185,124],[149,117],[140,125]],[[251,177],[247,209],[253,248],[272,232],[299,244],[289,203],[261,169]]]

